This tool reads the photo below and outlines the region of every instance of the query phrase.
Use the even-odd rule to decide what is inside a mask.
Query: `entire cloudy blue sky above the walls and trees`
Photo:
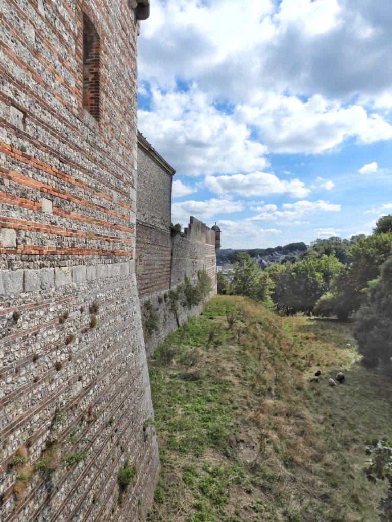
[[[254,248],[392,213],[392,2],[154,0],[139,128],[176,170],[173,222]]]

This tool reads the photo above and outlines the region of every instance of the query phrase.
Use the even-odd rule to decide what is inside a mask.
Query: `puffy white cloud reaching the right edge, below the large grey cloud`
[[[264,93],[258,104],[237,107],[238,121],[258,128],[259,139],[275,153],[319,153],[349,137],[359,143],[392,138],[392,126],[358,104],[348,107],[315,94],[306,102],[297,96]]]

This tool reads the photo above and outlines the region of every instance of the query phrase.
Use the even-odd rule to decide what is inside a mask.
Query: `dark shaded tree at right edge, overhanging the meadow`
[[[369,283],[367,303],[358,311],[354,331],[367,366],[377,366],[380,361],[390,366],[392,357],[392,256],[380,272]]]

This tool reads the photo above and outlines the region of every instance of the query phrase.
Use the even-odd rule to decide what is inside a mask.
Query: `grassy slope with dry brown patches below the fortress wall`
[[[149,361],[162,465],[149,520],[375,522],[364,442],[392,437],[392,383],[347,342],[350,324],[239,296],[170,335]]]

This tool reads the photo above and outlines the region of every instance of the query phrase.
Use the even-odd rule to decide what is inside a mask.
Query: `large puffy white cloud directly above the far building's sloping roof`
[[[196,85],[187,92],[152,92],[139,128],[178,173],[251,172],[267,167],[267,147],[250,139],[245,123],[219,111]]]

